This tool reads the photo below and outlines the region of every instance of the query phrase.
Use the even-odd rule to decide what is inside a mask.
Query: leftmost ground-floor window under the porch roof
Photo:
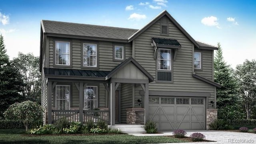
[[[69,110],[70,109],[70,86],[56,85],[56,109]]]

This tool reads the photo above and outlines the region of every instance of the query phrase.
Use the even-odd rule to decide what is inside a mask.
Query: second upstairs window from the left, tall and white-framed
[[[96,67],[97,66],[97,45],[83,44],[83,66]]]

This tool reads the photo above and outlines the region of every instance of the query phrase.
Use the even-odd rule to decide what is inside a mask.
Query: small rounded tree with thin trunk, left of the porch
[[[20,120],[28,131],[29,124],[34,124],[43,119],[43,109],[33,101],[14,103],[4,112],[4,117],[9,120]]]

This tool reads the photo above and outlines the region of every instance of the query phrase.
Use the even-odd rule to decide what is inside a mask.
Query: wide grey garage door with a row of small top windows
[[[205,129],[205,98],[149,97],[149,119],[158,130]]]

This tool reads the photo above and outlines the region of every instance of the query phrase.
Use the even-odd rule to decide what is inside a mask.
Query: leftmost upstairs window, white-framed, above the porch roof
[[[56,41],[56,65],[70,65],[70,42]]]

